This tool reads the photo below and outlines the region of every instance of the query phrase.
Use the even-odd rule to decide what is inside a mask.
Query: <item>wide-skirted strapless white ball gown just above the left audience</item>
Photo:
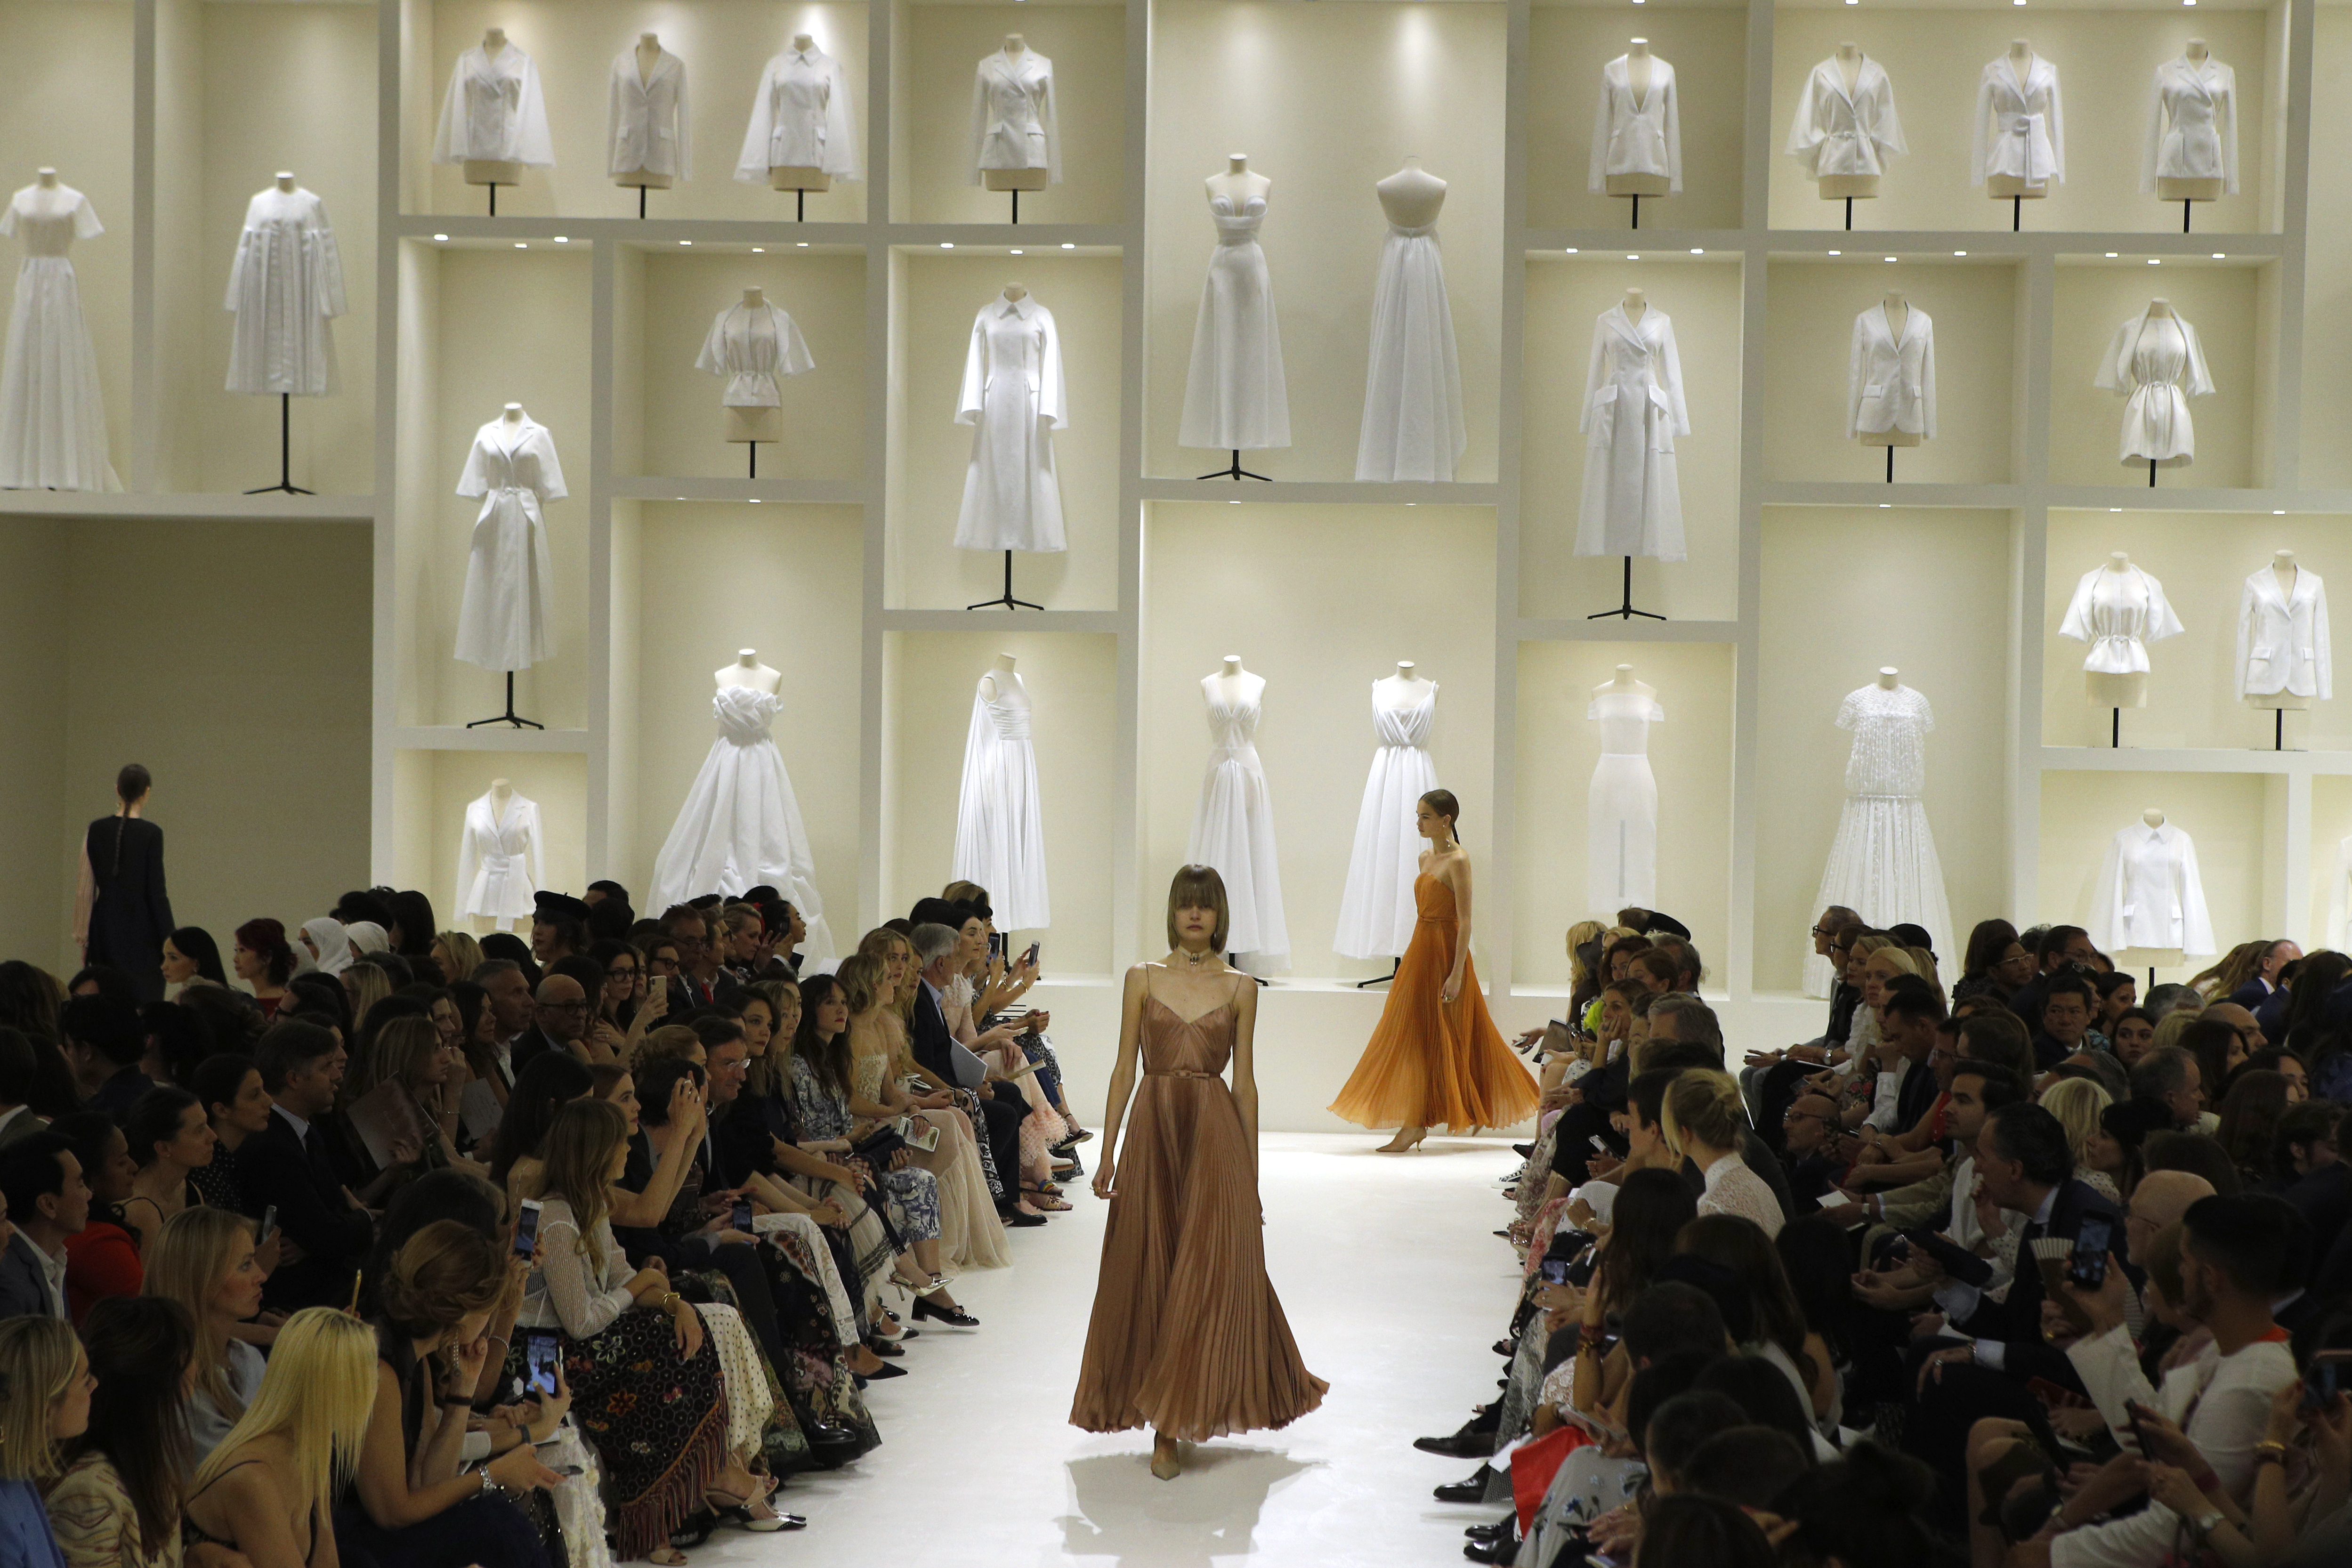
[[[833,969],[833,931],[816,893],[809,830],[800,820],[783,752],[769,733],[781,710],[783,698],[757,686],[720,686],[710,696],[720,736],[654,858],[647,907],[668,910],[703,893],[734,896],[760,884],[781,889],[809,924],[800,945],[802,971],[826,973]]]

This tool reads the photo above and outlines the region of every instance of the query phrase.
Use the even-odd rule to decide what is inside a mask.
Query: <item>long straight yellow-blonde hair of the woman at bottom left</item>
[[[294,1453],[294,1500],[332,1512],[360,1467],[374,1408],[376,1331],[334,1307],[303,1307],[278,1331],[254,1403],[195,1467],[188,1495],[226,1474],[240,1448],[282,1434]]]

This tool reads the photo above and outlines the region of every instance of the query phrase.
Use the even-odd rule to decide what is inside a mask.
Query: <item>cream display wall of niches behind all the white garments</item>
[[[174,541],[165,562],[245,562],[259,536],[238,529],[325,527],[341,555],[263,567],[249,602],[219,595],[219,625],[259,661],[308,658],[306,675],[372,670],[376,879],[452,898],[459,813],[503,776],[541,802],[550,882],[642,889],[710,741],[710,670],[755,646],[786,670],[779,741],[830,922],[854,933],[946,879],[971,689],[1011,651],[1037,701],[1056,910],[1033,933],[1044,1001],[1098,1081],[1115,976],[1160,950],[1185,851],[1207,762],[1197,682],[1240,654],[1268,677],[1261,755],[1294,950],[1263,1009],[1265,1121],[1315,1128],[1381,1006],[1355,990],[1381,966],[1329,940],[1369,682],[1395,661],[1442,689],[1432,757],[1463,799],[1477,959],[1503,1025],[1538,1023],[1566,985],[1559,936],[1590,914],[1583,693],[1630,663],[1668,712],[1658,903],[1696,931],[1710,999],[1762,1044],[1816,1018],[1795,987],[1844,795],[1837,701],[1898,665],[1936,708],[1926,811],[1962,926],[2082,917],[2107,835],[2154,804],[2197,835],[2225,938],[2326,931],[2352,835],[2352,719],[2333,703],[2288,715],[2272,750],[2270,715],[2232,698],[2230,658],[2237,585],[2272,550],[2352,581],[2352,172],[2314,160],[2310,134],[2312,106],[2352,101],[2345,9],[9,0],[0,14],[0,146],[19,179],[59,167],[108,226],[75,268],[129,487],[0,494],[7,637],[85,649],[85,625],[172,623],[181,578],[75,576],[82,529],[143,520]],[[501,188],[494,219],[482,188],[430,162],[449,68],[485,26],[536,61],[557,158]],[[687,61],[694,179],[654,190],[640,221],[602,141],[612,61],[644,31]],[[844,63],[863,153],[863,179],[809,195],[807,221],[788,193],[731,179],[760,71],[800,31]],[[964,169],[974,61],[1007,31],[1054,59],[1061,87],[1065,179],[1025,193],[1018,226]],[[1639,230],[1628,202],[1585,188],[1599,68],[1632,35],[1675,63],[1684,150],[1682,195],[1644,200]],[[2025,202],[2018,230],[1966,167],[1978,71],[2011,38],[2058,63],[2067,125],[2067,181]],[[2138,176],[2150,75],[2190,38],[2237,71],[2241,169],[2239,193],[2183,233],[2180,207],[2140,195]],[[1842,40],[1891,71],[1910,141],[1851,233],[1780,150],[1804,73]],[[1244,458],[1272,484],[1192,480],[1223,454],[1176,444],[1214,244],[1202,179],[1228,153],[1275,181],[1263,247],[1294,444]],[[1406,155],[1449,181],[1437,233],[1470,444],[1456,484],[1355,484],[1385,233],[1371,186]],[[235,226],[278,169],[325,197],[350,296],[341,393],[292,409],[292,480],[318,496],[235,494],[275,480],[278,411],[219,390]],[[1004,564],[950,543],[971,442],[953,421],[964,341],[1009,280],[1056,313],[1073,390],[1056,433],[1070,548],[1016,557],[1014,590],[1044,604],[1018,616],[964,609],[1002,590]],[[783,383],[786,440],[760,447],[757,477],[722,440],[720,381],[694,369],[746,284],[793,313],[816,357]],[[1635,602],[1668,621],[1590,621],[1618,602],[1623,567],[1573,555],[1592,320],[1625,287],[1672,315],[1689,390],[1689,559],[1632,567]],[[1896,454],[1893,484],[1882,449],[1844,437],[1851,322],[1889,287],[1936,320],[1940,404],[1938,437]],[[2110,334],[2152,296],[2197,324],[2216,381],[2192,404],[2197,463],[2154,487],[2117,461],[2122,400],[2093,386]],[[543,731],[466,729],[503,705],[503,682],[449,656],[477,510],[452,491],[503,402],[553,430],[572,489],[548,505],[555,654],[515,682]],[[2152,649],[2122,748],[2082,701],[2082,644],[2056,637],[2074,578],[2110,550],[2164,578],[2187,625]],[[332,595],[303,597],[320,559],[369,562],[372,642],[329,614]],[[289,595],[299,614],[278,609]],[[329,625],[343,639],[320,658]],[[252,684],[249,668],[193,675],[205,691]],[[5,912],[5,929],[38,933],[94,813],[80,773],[111,769],[103,726],[68,708],[103,698],[24,668],[0,691],[12,733],[33,738],[0,797],[59,823],[56,844],[21,856],[26,891]],[[205,712],[202,693],[186,708]],[[310,741],[332,773],[343,741]],[[198,790],[205,813],[230,773]],[[174,844],[198,827],[174,823]],[[306,889],[289,898],[327,898],[358,875],[346,863],[322,823],[273,875]],[[188,865],[174,865],[188,898],[263,886],[221,856]],[[1962,936],[1938,933],[1952,954]]]

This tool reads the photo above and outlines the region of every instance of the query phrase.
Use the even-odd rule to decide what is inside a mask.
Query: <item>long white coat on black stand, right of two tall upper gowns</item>
[[[1675,437],[1691,433],[1682,402],[1675,322],[1649,306],[1642,320],[1609,306],[1592,322],[1585,371],[1585,491],[1576,517],[1578,555],[1682,559],[1682,487]]]

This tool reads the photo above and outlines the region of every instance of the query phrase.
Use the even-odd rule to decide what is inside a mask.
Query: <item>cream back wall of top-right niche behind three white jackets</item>
[[[2206,233],[2270,228],[2258,195],[2270,158],[2265,31],[2265,14],[2253,9],[2190,16],[2037,7],[2018,16],[2011,7],[1860,14],[1785,7],[1773,16],[1771,221],[1776,228],[1844,226],[1844,202],[1823,202],[1804,165],[1780,148],[1806,73],[1839,40],[1853,40],[1886,66],[1910,146],[1879,181],[1877,200],[1853,205],[1856,228],[2006,230],[2011,202],[1994,202],[1983,186],[1969,183],[1971,115],[1985,63],[2006,54],[2011,38],[2027,38],[2034,54],[2058,66],[2065,181],[2025,202],[2025,228],[2180,233],[2180,202],[2140,195],[2140,160],[2157,66],[2178,56],[2190,38],[2204,38],[2237,73],[2239,195],[2201,202],[2194,223]]]

